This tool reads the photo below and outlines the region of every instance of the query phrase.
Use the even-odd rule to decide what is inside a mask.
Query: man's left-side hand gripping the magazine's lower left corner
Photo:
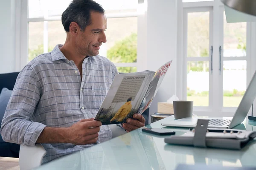
[[[67,143],[76,145],[96,143],[101,122],[92,119],[82,119],[67,128]]]

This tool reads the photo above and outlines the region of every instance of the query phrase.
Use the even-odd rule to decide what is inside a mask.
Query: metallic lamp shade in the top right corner
[[[221,2],[229,8],[256,16],[256,0],[221,0]]]

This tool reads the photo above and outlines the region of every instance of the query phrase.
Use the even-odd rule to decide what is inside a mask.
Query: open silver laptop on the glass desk
[[[236,125],[239,125],[241,122],[244,121],[244,119],[247,116],[247,113],[249,112],[253,101],[256,97],[256,71],[253,74],[253,77],[244,93],[243,98],[241,99],[241,102],[236,109],[236,112],[233,116],[233,119],[209,119],[208,127],[209,128],[233,128]],[[177,119],[173,120],[168,123],[162,123],[162,126],[167,127],[196,127],[197,120],[198,119],[206,119],[206,118],[183,118],[183,119]]]

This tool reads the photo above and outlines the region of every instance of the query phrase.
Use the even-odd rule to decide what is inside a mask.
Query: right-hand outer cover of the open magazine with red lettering
[[[171,63],[172,61],[166,62],[155,72],[154,78],[148,87],[145,98],[143,99],[143,102],[141,103],[137,113],[142,114],[151,105],[154,96],[157,94],[158,88],[160,87]]]

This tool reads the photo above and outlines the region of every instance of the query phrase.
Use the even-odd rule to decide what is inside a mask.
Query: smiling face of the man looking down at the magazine
[[[105,29],[107,28],[107,18],[105,14],[92,11],[91,24],[78,33],[76,45],[79,53],[86,56],[96,56],[99,54],[102,42],[107,42]]]

